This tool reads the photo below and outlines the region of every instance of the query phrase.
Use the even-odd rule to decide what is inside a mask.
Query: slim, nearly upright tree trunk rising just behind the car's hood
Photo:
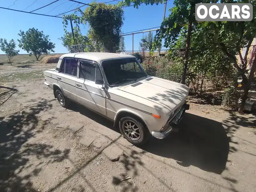
[[[190,37],[191,37],[191,31],[192,31],[192,22],[193,22],[193,13],[194,13],[194,5],[191,4],[190,9],[190,15],[189,15],[189,24],[188,24],[188,36],[187,36],[187,42],[186,42],[186,50],[184,55],[184,64],[183,64],[183,73],[182,73],[182,79],[181,83],[185,84],[186,81],[186,74],[187,74],[187,68],[188,68],[188,51],[190,46]]]

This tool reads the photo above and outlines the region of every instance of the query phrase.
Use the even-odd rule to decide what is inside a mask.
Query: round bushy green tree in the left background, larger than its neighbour
[[[34,54],[36,60],[38,60],[42,54],[54,52],[55,44],[50,42],[50,39],[48,39],[49,35],[45,36],[43,31],[30,28],[26,33],[20,30],[18,35],[20,36],[20,39],[18,39],[19,47],[28,52],[29,56]]]

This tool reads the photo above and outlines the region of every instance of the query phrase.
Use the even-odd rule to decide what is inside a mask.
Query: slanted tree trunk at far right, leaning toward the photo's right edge
[[[253,79],[253,76],[254,76],[255,69],[256,69],[256,56],[254,56],[253,63],[252,63],[252,68],[251,68],[247,83],[244,84],[244,95],[242,97],[242,102],[241,102],[241,105],[240,105],[240,108],[239,108],[239,111],[238,111],[239,113],[243,113],[243,111],[244,111],[245,101],[247,99],[247,95],[248,95],[248,92],[249,92],[250,87],[251,87],[251,82],[252,82],[252,79]]]

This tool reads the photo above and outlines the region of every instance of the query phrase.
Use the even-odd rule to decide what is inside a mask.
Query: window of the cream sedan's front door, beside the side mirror
[[[103,80],[99,66],[87,61],[80,61],[79,78],[93,82]]]

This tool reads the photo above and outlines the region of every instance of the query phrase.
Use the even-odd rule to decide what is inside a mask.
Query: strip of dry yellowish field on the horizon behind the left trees
[[[65,53],[51,53],[49,55],[63,55]],[[46,55],[41,55],[39,60],[45,57]],[[23,61],[31,61],[31,60],[36,60],[36,57],[32,55],[31,57],[28,54],[19,54],[13,57],[12,62],[21,64]],[[5,64],[8,63],[9,60],[5,54],[0,54],[0,63]]]

